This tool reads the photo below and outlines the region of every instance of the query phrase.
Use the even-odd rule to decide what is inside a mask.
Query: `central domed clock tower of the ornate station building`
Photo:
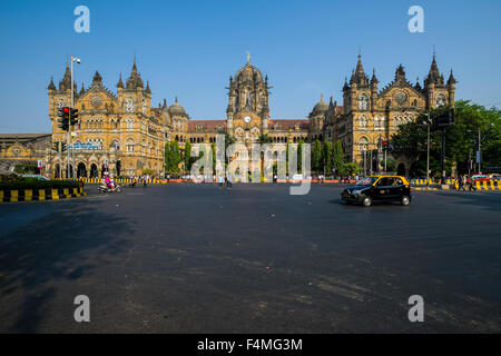
[[[268,131],[268,77],[263,79],[261,71],[250,63],[238,70],[235,79],[229,77],[228,107],[226,109],[229,135],[238,141],[255,142]]]

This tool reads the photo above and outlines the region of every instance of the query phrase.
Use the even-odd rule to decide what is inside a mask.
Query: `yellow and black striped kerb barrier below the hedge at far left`
[[[1,202],[32,201],[32,200],[59,200],[67,198],[80,198],[87,196],[84,188],[58,189],[3,189],[0,190]]]

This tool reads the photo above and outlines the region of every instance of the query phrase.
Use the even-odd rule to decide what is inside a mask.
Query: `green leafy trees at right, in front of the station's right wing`
[[[443,109],[442,109],[443,110]],[[430,112],[431,117],[441,110]],[[402,125],[391,139],[393,151],[416,159],[411,176],[426,175],[426,136],[425,115],[414,122]],[[501,167],[501,111],[498,108],[487,109],[466,100],[455,102],[455,125],[448,127],[445,135],[445,170],[451,174],[455,166],[459,174],[469,172],[469,160],[475,161],[475,152],[480,144],[482,167]],[[440,175],[441,170],[441,134],[433,130],[430,135],[430,170]],[[474,165],[473,165],[474,167]]]

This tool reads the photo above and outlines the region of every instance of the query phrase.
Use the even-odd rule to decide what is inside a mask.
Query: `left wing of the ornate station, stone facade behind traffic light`
[[[56,89],[53,81],[48,87],[55,144],[67,142],[67,132],[58,128],[57,111],[60,107],[70,106],[69,78],[67,67],[59,89]],[[171,118],[165,101],[158,108],[151,108],[150,99],[149,83],[145,87],[136,61],[126,85],[120,75],[117,93],[102,86],[102,78],[97,71],[89,88],[82,85],[79,92],[75,90],[73,107],[79,110],[79,125],[75,129],[73,141],[97,146],[75,150],[78,177],[101,177],[106,170],[117,176],[139,176],[145,168],[161,174]],[[66,152],[58,152],[47,168],[55,177],[60,177],[61,170],[66,177]]]

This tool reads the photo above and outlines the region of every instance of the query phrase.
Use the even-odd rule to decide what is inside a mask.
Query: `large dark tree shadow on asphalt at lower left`
[[[128,222],[97,202],[53,202],[48,208],[50,215],[0,239],[0,316],[14,320],[1,323],[1,332],[36,333],[61,283],[91,275],[98,261],[127,248],[120,236],[131,231]]]

